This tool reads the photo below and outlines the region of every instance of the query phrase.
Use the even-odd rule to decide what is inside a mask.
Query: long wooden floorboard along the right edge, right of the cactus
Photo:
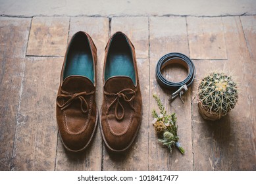
[[[240,18],[225,17],[224,33],[226,39],[226,48],[228,51],[228,64],[230,70],[234,70],[238,83],[240,84],[240,99],[238,105],[232,111],[232,121],[236,130],[236,147],[238,154],[238,167],[236,170],[256,170],[256,149],[255,149],[255,58],[250,49],[255,52],[256,34],[253,30],[256,24],[248,17],[249,24],[241,24]],[[244,28],[244,32],[243,32]],[[250,30],[249,32],[247,32]],[[253,33],[254,32],[254,33]],[[245,35],[245,37],[244,37]],[[246,38],[246,40],[245,40]],[[236,43],[236,44],[234,44]],[[248,49],[249,47],[249,49]]]

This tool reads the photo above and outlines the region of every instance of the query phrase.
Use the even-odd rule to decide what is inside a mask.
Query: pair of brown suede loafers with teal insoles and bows
[[[64,57],[56,116],[63,145],[74,152],[90,144],[98,121],[96,106],[97,49],[90,35],[73,35]],[[101,135],[108,149],[132,145],[141,123],[141,92],[134,46],[116,32],[105,48]]]

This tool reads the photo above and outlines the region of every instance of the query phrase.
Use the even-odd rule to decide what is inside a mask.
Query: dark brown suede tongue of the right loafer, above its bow
[[[122,89],[135,90],[136,87],[134,86],[134,83],[131,78],[126,76],[116,76],[116,77],[109,78],[105,82],[104,89],[107,92],[118,93]]]

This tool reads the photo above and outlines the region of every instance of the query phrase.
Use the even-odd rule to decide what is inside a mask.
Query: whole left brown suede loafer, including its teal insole
[[[97,49],[90,35],[74,34],[66,49],[56,106],[61,140],[70,151],[84,150],[97,127],[96,62]]]

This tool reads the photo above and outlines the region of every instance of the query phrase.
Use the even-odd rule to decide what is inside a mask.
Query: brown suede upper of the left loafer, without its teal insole
[[[63,145],[67,150],[78,152],[86,149],[97,127],[97,106],[95,101],[95,83],[97,62],[97,49],[90,37],[85,32],[78,32],[75,36],[88,37],[93,58],[94,83],[85,76],[68,76],[63,79],[63,72],[68,47],[64,57],[61,71],[61,83],[57,94],[56,116],[59,133]],[[81,39],[83,40],[83,39]],[[70,100],[71,99],[71,100]],[[64,106],[66,104],[66,106]],[[64,108],[62,108],[64,107]]]

